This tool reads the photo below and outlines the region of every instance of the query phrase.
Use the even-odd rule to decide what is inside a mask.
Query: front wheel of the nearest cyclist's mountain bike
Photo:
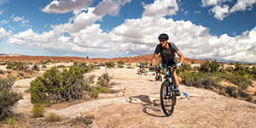
[[[164,81],[161,85],[160,102],[166,116],[172,115],[174,110],[174,105],[176,103],[176,95],[174,92],[172,92],[169,81]]]

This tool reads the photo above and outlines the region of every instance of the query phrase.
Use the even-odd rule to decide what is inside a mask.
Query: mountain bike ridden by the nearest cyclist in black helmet
[[[173,113],[174,106],[176,105],[176,89],[174,88],[174,82],[172,81],[171,69],[177,67],[167,67],[166,69],[166,81],[164,81],[160,88],[160,103],[166,116],[170,116]]]

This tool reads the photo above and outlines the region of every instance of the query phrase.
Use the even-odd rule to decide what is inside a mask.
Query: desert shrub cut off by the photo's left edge
[[[13,107],[22,99],[22,95],[12,88],[14,82],[15,78],[12,76],[8,75],[5,79],[0,77],[0,120],[14,115]]]

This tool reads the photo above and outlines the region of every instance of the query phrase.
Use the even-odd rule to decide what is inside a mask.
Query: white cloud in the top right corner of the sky
[[[251,10],[256,0],[237,0],[237,3],[232,8],[225,4],[228,2],[230,3],[232,0],[201,0],[202,7],[213,6],[213,8],[210,8],[210,12],[219,20],[223,20],[236,11]]]

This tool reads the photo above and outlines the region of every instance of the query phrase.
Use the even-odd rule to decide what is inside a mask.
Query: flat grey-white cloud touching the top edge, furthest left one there
[[[53,0],[42,11],[49,14],[66,14],[73,10],[89,7],[93,0]]]

